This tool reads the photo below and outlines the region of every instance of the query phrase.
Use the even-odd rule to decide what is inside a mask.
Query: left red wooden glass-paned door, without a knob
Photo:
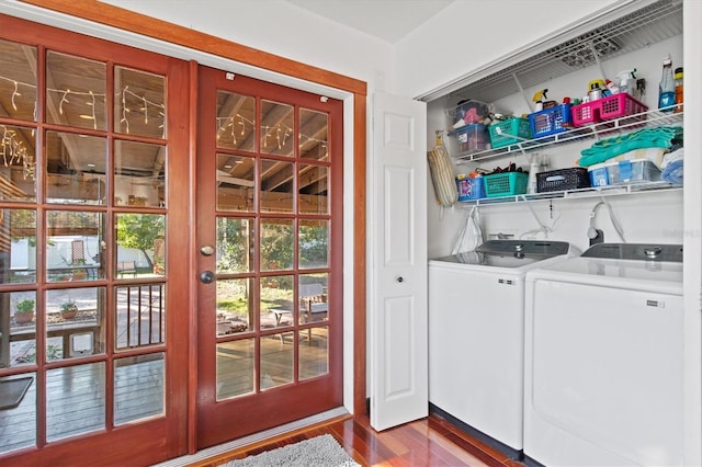
[[[0,15],[0,464],[184,452],[188,105],[186,62]]]

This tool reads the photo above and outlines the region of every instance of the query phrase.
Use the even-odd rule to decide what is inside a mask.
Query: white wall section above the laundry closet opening
[[[396,44],[396,91],[426,94],[618,2],[456,0]]]

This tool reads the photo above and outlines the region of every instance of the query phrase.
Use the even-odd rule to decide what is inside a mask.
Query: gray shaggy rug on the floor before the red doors
[[[330,434],[288,444],[220,467],[356,467],[360,466]]]

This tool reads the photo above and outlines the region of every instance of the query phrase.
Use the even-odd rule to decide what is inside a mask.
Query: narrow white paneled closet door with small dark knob
[[[373,100],[370,286],[371,425],[428,414],[427,106]]]

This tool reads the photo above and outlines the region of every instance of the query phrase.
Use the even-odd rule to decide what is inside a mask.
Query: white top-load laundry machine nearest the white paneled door
[[[578,253],[567,242],[491,240],[429,262],[432,410],[512,457],[522,448],[524,274]]]

